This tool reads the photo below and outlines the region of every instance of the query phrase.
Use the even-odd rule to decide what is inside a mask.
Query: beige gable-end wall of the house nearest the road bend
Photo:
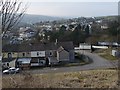
[[[69,61],[69,52],[63,50],[61,52],[57,52],[57,60],[59,61]]]

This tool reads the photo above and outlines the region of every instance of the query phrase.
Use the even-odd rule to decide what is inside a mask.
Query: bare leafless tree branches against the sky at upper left
[[[24,16],[27,6],[19,0],[0,0],[1,30],[3,36],[11,31]]]

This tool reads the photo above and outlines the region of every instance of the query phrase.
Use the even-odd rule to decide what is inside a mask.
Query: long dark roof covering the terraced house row
[[[58,42],[52,43],[32,43],[32,44],[15,44],[15,45],[5,45],[2,48],[2,52],[30,52],[30,51],[45,51],[45,50],[57,50],[62,46],[65,50],[74,50],[72,42]]]

